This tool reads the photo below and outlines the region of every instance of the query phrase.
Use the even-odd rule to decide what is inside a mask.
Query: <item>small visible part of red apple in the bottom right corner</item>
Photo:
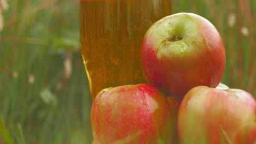
[[[256,143],[256,122],[252,125],[246,125],[241,130],[238,130],[234,137],[234,144],[255,144]]]

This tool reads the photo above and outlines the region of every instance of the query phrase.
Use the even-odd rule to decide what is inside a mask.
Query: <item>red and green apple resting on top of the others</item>
[[[173,34],[183,39],[170,41]],[[196,14],[178,13],[148,29],[142,63],[152,85],[182,100],[193,87],[218,85],[225,70],[225,49],[210,21]]]

